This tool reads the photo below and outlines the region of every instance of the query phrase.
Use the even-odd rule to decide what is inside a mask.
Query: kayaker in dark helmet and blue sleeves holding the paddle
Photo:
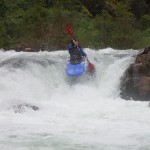
[[[79,46],[79,42],[76,39],[71,40],[71,43],[68,45],[69,54],[70,54],[70,62],[72,64],[81,63],[87,55],[83,51],[83,48]]]

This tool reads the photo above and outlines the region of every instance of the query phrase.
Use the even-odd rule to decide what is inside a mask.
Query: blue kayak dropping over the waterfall
[[[78,64],[71,64],[70,61],[67,61],[66,73],[68,76],[81,76],[85,72],[85,68],[85,61]]]

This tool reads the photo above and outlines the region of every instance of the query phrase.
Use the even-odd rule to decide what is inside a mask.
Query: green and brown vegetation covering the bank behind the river
[[[1,0],[0,47],[66,49],[67,23],[84,47],[150,46],[149,0]]]

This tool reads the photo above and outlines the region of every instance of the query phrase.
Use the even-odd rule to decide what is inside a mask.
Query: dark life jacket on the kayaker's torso
[[[82,55],[77,47],[73,47],[70,51],[70,62],[72,64],[78,64],[82,61]]]

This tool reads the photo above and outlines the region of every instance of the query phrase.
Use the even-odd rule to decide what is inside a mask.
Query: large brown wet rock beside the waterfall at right
[[[138,54],[125,71],[120,90],[123,99],[150,101],[150,47]]]

